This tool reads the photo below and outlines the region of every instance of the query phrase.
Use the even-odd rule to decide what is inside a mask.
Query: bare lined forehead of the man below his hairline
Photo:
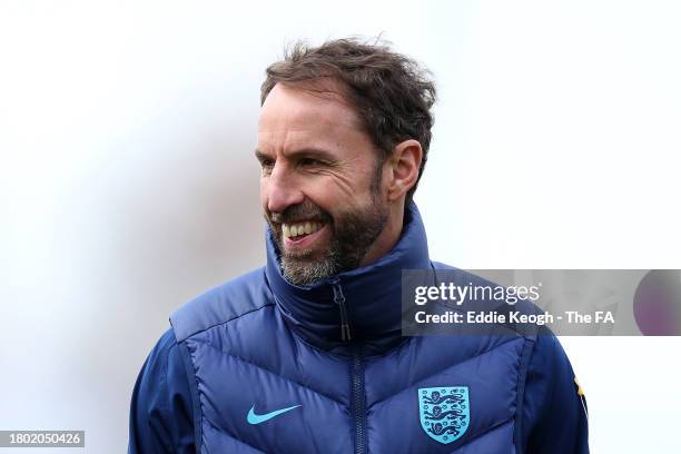
[[[260,110],[258,145],[286,147],[299,141],[338,145],[367,139],[355,109],[338,91],[277,83]]]

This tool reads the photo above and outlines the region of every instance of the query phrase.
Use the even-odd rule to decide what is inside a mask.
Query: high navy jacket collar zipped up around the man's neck
[[[368,266],[322,279],[313,285],[290,284],[280,272],[279,250],[267,230],[266,276],[277,307],[304,340],[343,353],[362,345],[366,354],[381,353],[401,342],[402,270],[430,268],[427,240],[418,209],[411,203],[402,235],[394,248]],[[342,335],[343,307],[349,339]],[[344,338],[345,337],[345,338]]]

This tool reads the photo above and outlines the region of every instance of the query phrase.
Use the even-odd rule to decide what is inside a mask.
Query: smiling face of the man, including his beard
[[[258,124],[260,200],[282,270],[307,285],[362,265],[384,230],[378,151],[338,95],[277,83]]]

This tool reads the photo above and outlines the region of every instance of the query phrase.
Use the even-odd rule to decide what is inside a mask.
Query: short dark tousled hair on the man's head
[[[416,184],[407,193],[411,200],[423,174],[431,145],[435,83],[430,71],[414,60],[393,52],[385,42],[365,43],[355,38],[326,41],[319,47],[296,42],[284,60],[270,65],[260,87],[260,105],[275,85],[314,82],[323,78],[340,81],[356,108],[366,132],[383,155],[407,139],[417,140],[423,159]]]

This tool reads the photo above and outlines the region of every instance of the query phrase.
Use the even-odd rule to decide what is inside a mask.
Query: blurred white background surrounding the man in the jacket
[[[126,450],[169,313],[264,260],[259,85],[298,38],[384,33],[433,70],[433,258],[681,268],[679,23],[675,1],[0,0],[0,430]],[[561,340],[592,452],[681,452],[681,339]]]

